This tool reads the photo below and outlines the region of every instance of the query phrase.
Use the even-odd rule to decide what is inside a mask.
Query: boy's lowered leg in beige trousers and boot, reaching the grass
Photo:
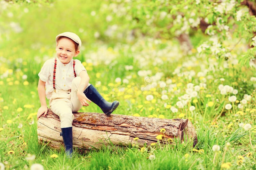
[[[68,99],[54,99],[50,103],[50,109],[60,117],[60,136],[63,138],[65,153],[69,158],[73,152],[72,122],[74,115],[71,110],[72,104]]]

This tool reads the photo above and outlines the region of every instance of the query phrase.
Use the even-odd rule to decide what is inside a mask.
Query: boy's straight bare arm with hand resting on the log
[[[46,99],[45,99],[45,83],[46,82],[42,81],[41,79],[39,79],[38,81],[37,90],[38,90],[38,96],[41,103],[41,107],[37,111],[37,120],[42,114],[44,114],[45,116],[48,111]]]

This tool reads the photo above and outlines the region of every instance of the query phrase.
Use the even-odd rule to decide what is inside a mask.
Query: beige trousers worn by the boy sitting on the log
[[[67,90],[57,90],[56,92],[53,91],[50,95],[50,109],[60,117],[60,128],[72,127],[74,119],[72,112],[77,112],[82,107],[77,97],[80,81],[81,78],[79,76],[73,79],[71,92]],[[88,84],[88,86],[89,85],[90,84]]]

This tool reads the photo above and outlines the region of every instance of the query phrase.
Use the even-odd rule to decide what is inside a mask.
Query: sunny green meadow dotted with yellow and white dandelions
[[[241,59],[248,51],[254,56],[248,44],[255,39],[242,39],[230,29],[230,37],[225,32],[220,43],[217,37],[190,30],[189,48],[172,32],[167,36],[158,28],[164,35],[154,36],[154,28],[138,22],[143,22],[142,15],[148,18],[146,12],[140,9],[139,19],[129,18],[125,9],[137,12],[136,3],[125,3],[1,1],[0,170],[256,169],[256,67]],[[67,159],[64,147],[38,143],[37,74],[44,61],[55,57],[55,36],[65,31],[82,39],[77,59],[90,83],[105,99],[120,102],[113,114],[189,119],[196,129],[196,147],[192,141],[160,145],[159,140],[150,148],[75,149]],[[222,50],[227,46],[228,52]],[[101,110],[92,103],[79,112]]]

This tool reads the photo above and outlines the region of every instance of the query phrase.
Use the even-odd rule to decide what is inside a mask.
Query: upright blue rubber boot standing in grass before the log
[[[73,152],[72,127],[61,128],[60,136],[62,136],[63,138],[66,155],[68,156],[68,158],[72,158],[72,152]]]

